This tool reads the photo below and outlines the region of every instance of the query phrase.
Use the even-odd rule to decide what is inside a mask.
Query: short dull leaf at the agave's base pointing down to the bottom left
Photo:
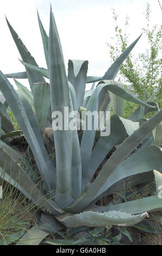
[[[55,218],[46,214],[41,214],[40,223],[27,231],[16,245],[39,245],[46,236],[53,232],[64,229]]]

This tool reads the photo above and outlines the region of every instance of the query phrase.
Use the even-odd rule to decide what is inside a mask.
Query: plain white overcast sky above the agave
[[[10,35],[5,16],[14,27],[24,44],[32,53],[39,66],[46,67],[39,32],[36,9],[45,27],[49,29],[48,0],[5,0],[0,9],[0,70],[4,73],[24,71],[17,58],[20,55]],[[114,36],[114,21],[111,8],[119,14],[120,26],[124,26],[128,15],[130,43],[134,41],[146,26],[144,11],[146,3],[151,4],[151,23],[161,24],[161,10],[158,0],[51,0],[57,22],[65,63],[68,59],[88,59],[90,76],[102,76],[111,60],[106,42]],[[162,1],[160,0],[161,5]],[[133,53],[146,48],[145,36],[142,36]],[[21,82],[27,86],[27,83]]]

